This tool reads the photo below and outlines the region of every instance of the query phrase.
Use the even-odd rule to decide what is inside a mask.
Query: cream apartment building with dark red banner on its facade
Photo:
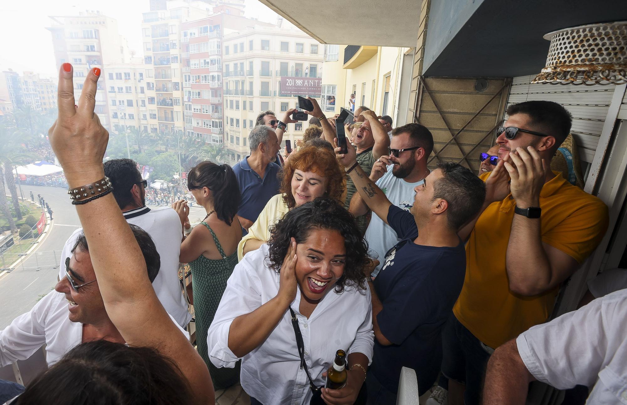
[[[271,110],[280,119],[283,112],[297,107],[298,93],[282,92],[282,79],[302,78],[320,85],[322,56],[320,43],[287,22],[265,26],[255,21],[255,26],[224,36],[224,145],[229,164],[250,154],[248,133],[260,112]],[[310,95],[319,98],[320,92]],[[307,126],[289,124],[282,147],[288,139],[294,145]]]

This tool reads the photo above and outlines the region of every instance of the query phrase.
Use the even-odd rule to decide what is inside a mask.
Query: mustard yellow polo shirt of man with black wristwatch
[[[571,256],[586,260],[608,229],[608,207],[601,199],[572,186],[560,172],[540,192],[542,241]],[[490,172],[482,174],[485,181]],[[466,245],[466,276],[453,307],[457,319],[490,347],[539,323],[553,309],[559,288],[534,297],[509,290],[505,255],[516,201],[512,195],[493,202],[477,220]]]

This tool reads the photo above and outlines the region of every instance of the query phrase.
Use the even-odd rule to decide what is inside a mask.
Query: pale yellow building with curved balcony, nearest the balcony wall
[[[413,54],[411,48],[392,46],[325,45],[322,76],[322,110],[339,113],[349,108],[372,108],[377,115],[392,117],[393,126],[406,123]],[[403,87],[401,87],[403,86]]]

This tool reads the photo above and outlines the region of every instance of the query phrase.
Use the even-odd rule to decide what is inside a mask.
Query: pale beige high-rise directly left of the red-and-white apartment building
[[[159,6],[151,3],[152,6]],[[162,4],[161,4],[162,6]],[[181,24],[208,16],[208,3],[166,2],[143,14],[144,64],[150,132],[184,133]]]

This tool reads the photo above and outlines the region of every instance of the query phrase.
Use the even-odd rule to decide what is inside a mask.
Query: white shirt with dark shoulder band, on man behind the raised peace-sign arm
[[[187,310],[185,297],[181,292],[179,281],[179,255],[181,254],[182,226],[179,214],[169,207],[148,208],[146,206],[126,211],[124,219],[129,224],[139,226],[150,235],[161,258],[159,274],[152,281],[157,298],[168,313],[182,327],[186,327],[192,318]],[[65,277],[65,259],[71,257],[70,251],[83,228],[78,228],[65,242],[61,251],[59,279]]]

